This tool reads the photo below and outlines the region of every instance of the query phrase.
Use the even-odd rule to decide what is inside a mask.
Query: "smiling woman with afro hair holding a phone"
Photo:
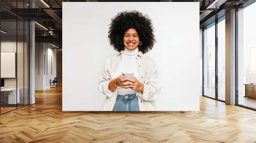
[[[156,110],[161,86],[156,64],[144,55],[155,42],[151,20],[138,11],[124,11],[112,19],[108,33],[118,54],[106,60],[100,77],[99,91],[106,95],[103,109]]]

